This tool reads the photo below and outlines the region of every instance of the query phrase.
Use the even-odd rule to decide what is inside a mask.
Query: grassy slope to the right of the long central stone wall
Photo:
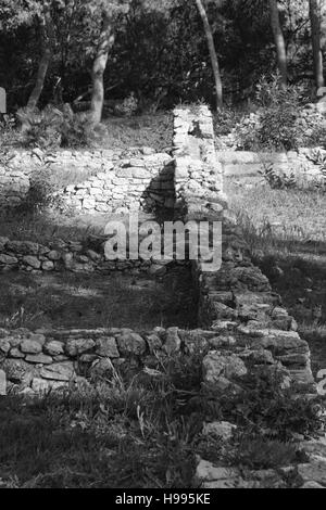
[[[326,194],[227,183],[230,207],[255,262],[326,368]]]

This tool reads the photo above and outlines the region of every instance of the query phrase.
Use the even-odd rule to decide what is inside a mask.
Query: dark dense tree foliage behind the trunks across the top
[[[324,0],[319,3],[323,8]],[[226,103],[247,101],[261,75],[277,66],[268,2],[205,0],[204,5]],[[309,0],[281,0],[278,8],[289,81],[313,90]],[[73,103],[80,95],[90,100],[103,9],[114,33],[104,73],[106,100],[133,97],[142,111],[201,99],[214,104],[210,53],[195,1],[0,0],[0,86],[9,92],[11,111],[28,102],[46,40],[52,55],[40,106]]]

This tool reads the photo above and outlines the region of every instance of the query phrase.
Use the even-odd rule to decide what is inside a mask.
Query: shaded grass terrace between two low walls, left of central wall
[[[195,328],[190,269],[160,280],[124,273],[0,275],[0,326],[37,328]]]

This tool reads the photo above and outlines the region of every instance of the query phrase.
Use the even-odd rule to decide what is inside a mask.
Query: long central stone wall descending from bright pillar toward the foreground
[[[234,359],[239,366],[242,366],[243,359],[251,359],[256,365],[278,367],[287,374],[289,381],[304,385],[313,384],[308,343],[302,341],[296,332],[296,321],[281,307],[280,297],[273,293],[267,278],[251,263],[249,250],[239,229],[224,218],[223,212],[227,203],[223,200],[221,166],[217,164],[220,154],[212,150],[209,165],[209,168],[217,168],[215,171],[217,186],[214,184],[210,189],[205,186],[208,181],[203,178],[204,183],[199,193],[192,194],[191,170],[187,177],[188,180],[184,178],[186,175],[184,170],[187,165],[191,168],[192,158],[195,167],[199,168],[198,171],[206,176],[204,162],[193,155],[193,148],[197,148],[197,144],[193,140],[186,142],[187,133],[189,137],[191,132],[190,136],[197,137],[201,143],[202,139],[209,140],[209,144],[212,143],[211,114],[205,107],[200,109],[200,113],[204,115],[204,133],[209,133],[208,138],[202,138],[201,129],[195,130],[192,127],[189,131],[189,124],[192,126],[191,122],[188,122],[188,125],[185,122],[189,116],[189,111],[176,112],[174,154],[176,195],[177,200],[183,203],[185,219],[190,216],[191,219],[198,221],[205,219],[211,222],[221,220],[223,222],[221,269],[206,271],[200,260],[193,262],[195,284],[199,292],[199,324],[217,331],[221,341],[216,342],[216,348],[224,345],[228,349],[226,353],[218,350],[209,353],[206,366],[210,368],[205,378],[218,382],[220,357],[230,356],[229,359]],[[191,120],[192,118],[190,115]],[[184,140],[181,148],[179,146],[180,139]],[[200,180],[200,177],[196,180]],[[209,195],[205,194],[206,189],[210,189]],[[226,383],[224,374],[221,381],[222,384]]]

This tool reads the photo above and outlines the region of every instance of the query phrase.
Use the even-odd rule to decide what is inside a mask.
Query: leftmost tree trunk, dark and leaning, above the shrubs
[[[48,68],[52,59],[54,29],[51,17],[50,4],[48,2],[43,5],[43,18],[41,20],[41,31],[42,31],[42,56],[38,66],[37,77],[35,87],[29,95],[27,107],[35,110],[39,98],[42,93],[45,79],[48,73]]]

